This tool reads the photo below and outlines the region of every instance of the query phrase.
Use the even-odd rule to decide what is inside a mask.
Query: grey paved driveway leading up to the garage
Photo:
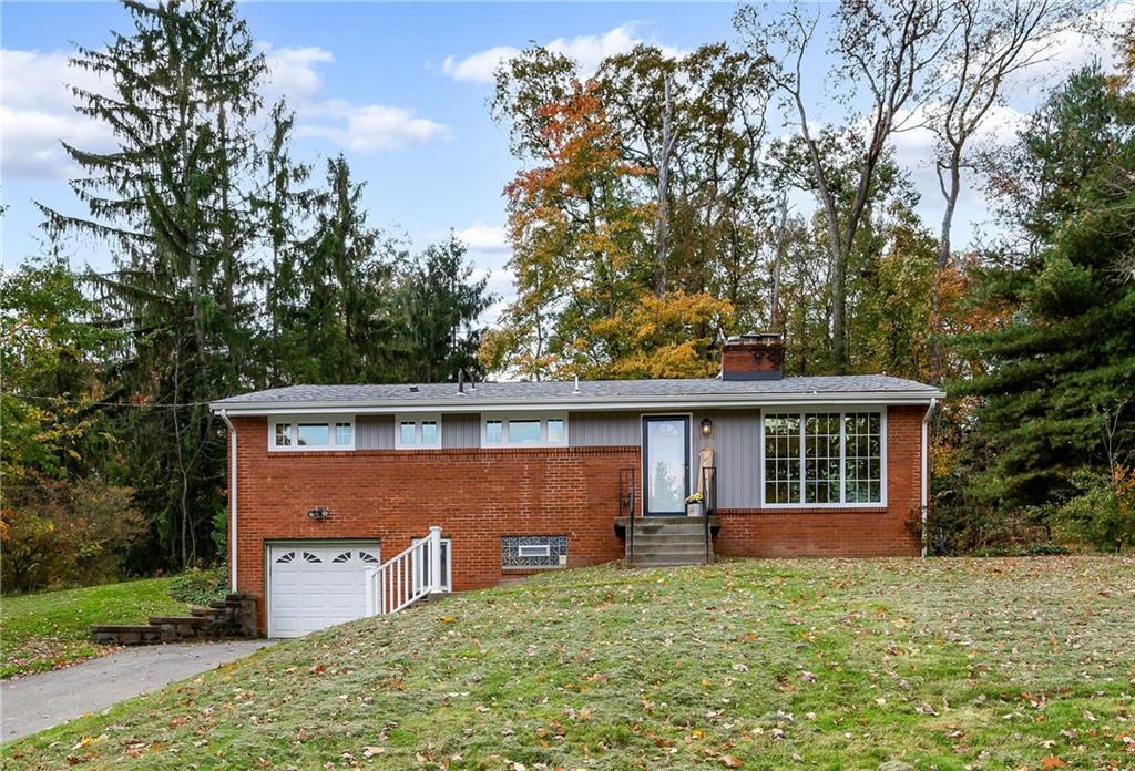
[[[2,742],[58,726],[86,712],[155,690],[242,659],[271,641],[174,643],[127,647],[101,659],[0,681]]]

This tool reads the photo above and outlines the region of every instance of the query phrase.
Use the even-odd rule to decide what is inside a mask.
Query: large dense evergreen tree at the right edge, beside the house
[[[1135,95],[1095,68],[1056,91],[1011,155],[1035,187],[1010,211],[1034,248],[985,271],[1009,323],[964,339],[987,368],[952,389],[980,397],[951,502],[1044,512],[1074,474],[1130,467],[1135,450]],[[1027,177],[1027,179],[1024,179]]]

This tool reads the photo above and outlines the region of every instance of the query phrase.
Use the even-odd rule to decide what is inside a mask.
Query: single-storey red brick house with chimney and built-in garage
[[[724,345],[715,379],[293,386],[216,401],[233,588],[258,600],[262,633],[294,636],[393,609],[376,592],[624,556],[918,554],[926,417],[944,393],[886,375],[783,378],[782,361],[780,336],[750,334]],[[698,491],[704,516],[687,517]]]

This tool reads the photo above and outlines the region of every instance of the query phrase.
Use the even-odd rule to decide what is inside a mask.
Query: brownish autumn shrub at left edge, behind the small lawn
[[[9,482],[0,512],[5,591],[120,578],[127,549],[145,529],[132,495],[98,477]]]

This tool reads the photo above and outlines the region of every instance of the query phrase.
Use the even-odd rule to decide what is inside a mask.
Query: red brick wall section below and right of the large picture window
[[[714,550],[740,557],[916,556],[908,522],[922,510],[922,418],[925,407],[886,412],[886,507],[722,510]]]

